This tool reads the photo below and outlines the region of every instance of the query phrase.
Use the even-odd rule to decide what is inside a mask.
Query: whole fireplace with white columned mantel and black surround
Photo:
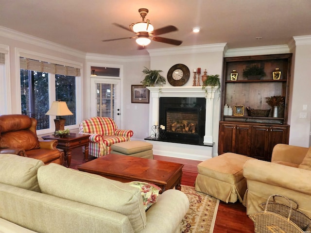
[[[150,137],[145,138],[146,140],[153,140],[151,135],[155,135],[153,127],[158,125],[160,133],[165,133],[167,137],[166,141],[164,139],[158,139],[154,141],[159,141],[159,143],[163,142],[161,145],[171,145],[170,143],[182,143],[182,144],[192,144],[192,145],[204,145],[204,146],[213,146],[213,100],[215,96],[216,89],[211,87],[206,87],[206,91],[202,90],[202,86],[163,86],[159,87],[147,87],[150,90],[150,105],[149,105],[149,129],[150,129]],[[180,98],[181,102],[177,103],[175,106],[172,103],[169,105],[169,115],[180,112],[182,110],[182,114],[180,114],[183,118],[187,117],[187,121],[195,121],[197,119],[197,125],[195,127],[194,133],[179,133],[176,131],[169,132],[172,128],[168,125],[167,119],[167,111],[160,110],[160,99],[162,98]],[[167,100],[167,99],[162,99]],[[173,100],[173,99],[172,99]],[[162,108],[162,107],[161,107]],[[203,110],[204,109],[204,110]],[[159,113],[164,112],[164,116],[159,116]],[[186,116],[187,114],[194,114],[195,116]],[[186,114],[186,115],[184,115]],[[190,119],[188,119],[188,117]],[[193,119],[195,118],[195,119]],[[176,121],[176,119],[175,119]],[[218,123],[218,118],[217,118]],[[165,130],[161,129],[163,126]],[[182,131],[182,129],[181,129]],[[191,131],[192,132],[192,131]],[[175,136],[175,139],[172,137]],[[177,137],[176,137],[177,136]],[[186,138],[181,141],[180,137]],[[203,142],[202,142],[203,137]],[[177,138],[177,139],[176,139]],[[165,142],[165,143],[164,143]],[[168,144],[166,144],[168,142]],[[180,146],[183,148],[183,146]],[[193,147],[191,147],[193,150]],[[173,149],[176,151],[177,149],[174,147]]]

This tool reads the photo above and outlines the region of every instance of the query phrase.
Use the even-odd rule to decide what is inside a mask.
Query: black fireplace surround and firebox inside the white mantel
[[[195,97],[160,97],[160,141],[203,146],[206,99]]]

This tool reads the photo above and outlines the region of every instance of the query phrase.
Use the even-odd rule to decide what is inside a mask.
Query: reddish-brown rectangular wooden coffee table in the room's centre
[[[180,190],[183,164],[108,154],[77,166],[80,171],[104,176],[123,183],[141,181],[154,183],[162,190]]]

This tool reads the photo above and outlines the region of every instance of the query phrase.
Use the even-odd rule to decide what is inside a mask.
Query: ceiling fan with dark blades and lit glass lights
[[[116,25],[122,29],[125,29],[127,31],[132,32],[132,33],[135,33],[136,34],[135,36],[116,38],[116,39],[108,39],[108,40],[103,40],[103,41],[106,42],[106,41],[114,41],[114,40],[122,40],[122,39],[135,39],[136,38],[136,43],[138,45],[140,45],[141,48],[144,48],[145,46],[149,45],[151,40],[154,40],[157,42],[162,42],[162,43],[167,43],[167,44],[171,44],[171,45],[181,45],[181,43],[183,43],[180,40],[169,39],[169,38],[157,36],[157,35],[164,34],[164,33],[171,33],[174,31],[178,31],[178,29],[175,26],[169,25],[169,26],[154,30],[154,27],[149,22],[149,19],[147,19],[145,21],[145,17],[147,15],[147,13],[149,12],[148,9],[140,8],[138,10],[138,12],[140,14],[140,17],[142,17],[142,21],[130,24],[129,28],[127,28],[121,24],[114,23],[114,25]]]

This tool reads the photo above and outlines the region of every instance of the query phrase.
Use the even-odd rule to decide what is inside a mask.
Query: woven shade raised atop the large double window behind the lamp
[[[49,62],[37,61],[25,57],[19,58],[19,66],[21,69],[46,72],[51,74],[60,74],[68,76],[80,76],[80,69],[57,65]]]

